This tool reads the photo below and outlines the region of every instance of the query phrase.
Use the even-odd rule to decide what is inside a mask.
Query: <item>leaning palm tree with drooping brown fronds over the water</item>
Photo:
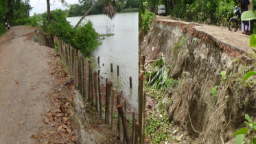
[[[89,12],[91,12],[91,10],[93,10],[93,8],[95,8],[95,6],[100,3],[100,1],[102,0],[97,0],[95,1],[95,3],[93,3],[93,5],[91,6],[91,8],[89,8],[89,10],[87,10],[87,12],[85,12],[85,14],[82,16],[82,18],[78,21],[78,23],[75,25],[74,28],[78,27],[78,25],[81,23],[81,21],[84,19],[84,17],[86,15],[89,14]],[[105,1],[105,5],[103,6],[103,13],[106,14],[106,16],[108,16],[110,19],[113,19],[113,17],[115,16],[115,14],[117,13],[117,10],[115,8],[116,3],[115,0],[111,1],[111,0],[104,0]],[[120,1],[121,5],[124,3],[124,0]]]

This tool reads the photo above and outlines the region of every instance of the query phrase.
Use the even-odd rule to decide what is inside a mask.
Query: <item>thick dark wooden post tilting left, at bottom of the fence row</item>
[[[121,117],[121,120],[122,120],[121,122],[123,123],[123,126],[124,126],[124,135],[126,137],[126,144],[130,144],[129,126],[128,126],[128,122],[126,119],[126,115],[124,115],[124,107],[121,105],[118,105],[117,110]]]

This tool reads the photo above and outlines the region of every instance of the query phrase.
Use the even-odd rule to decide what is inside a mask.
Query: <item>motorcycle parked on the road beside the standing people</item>
[[[231,19],[229,19],[229,30],[233,31],[233,32],[237,32],[238,29],[238,22],[240,22],[241,20],[241,13],[240,13],[240,8],[235,6],[233,13],[235,14],[234,17],[232,17]]]

